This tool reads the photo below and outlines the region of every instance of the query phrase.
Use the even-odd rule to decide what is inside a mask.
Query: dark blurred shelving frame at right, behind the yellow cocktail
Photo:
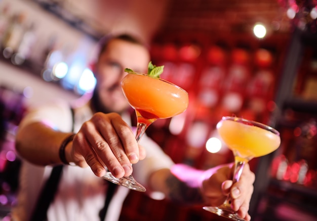
[[[305,48],[307,46],[315,48],[316,39],[316,34],[308,34],[295,28],[286,53],[279,90],[276,92],[274,100],[278,108],[272,113],[270,119],[271,126],[280,132],[286,131],[284,133],[286,136],[281,138],[283,145],[293,144],[292,132],[296,127],[311,118],[317,119],[317,100],[308,100],[293,95],[295,81],[298,75],[302,74],[300,67],[303,61],[306,61]],[[287,147],[283,148],[287,150]],[[268,174],[273,158],[274,155],[260,158],[250,203],[251,216],[261,221],[317,220],[317,189],[271,179]]]

